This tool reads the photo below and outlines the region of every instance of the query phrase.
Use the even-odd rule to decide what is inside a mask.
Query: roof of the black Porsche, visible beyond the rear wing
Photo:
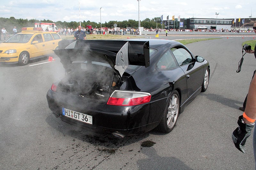
[[[126,40],[127,41],[127,40]],[[172,40],[163,40],[163,39],[130,39],[129,41],[149,41],[149,47],[150,48],[156,48],[159,49],[162,46],[165,46],[167,44],[169,45],[182,45],[178,41],[172,41]]]

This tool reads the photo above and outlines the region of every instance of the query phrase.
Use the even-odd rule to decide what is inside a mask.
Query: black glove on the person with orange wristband
[[[254,124],[248,124],[242,122],[243,115],[239,116],[237,124],[239,127],[237,127],[234,132],[232,133],[232,139],[236,146],[236,148],[245,153],[245,147],[244,144],[246,142],[246,139],[251,135],[251,130],[254,127]]]

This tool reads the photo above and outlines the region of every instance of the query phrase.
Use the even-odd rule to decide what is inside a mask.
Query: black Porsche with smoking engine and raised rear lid
[[[65,69],[47,92],[55,116],[119,138],[172,131],[209,82],[209,63],[176,41],[62,40],[54,52]]]

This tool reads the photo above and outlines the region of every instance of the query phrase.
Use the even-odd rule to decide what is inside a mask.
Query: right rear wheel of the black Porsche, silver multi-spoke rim
[[[163,117],[157,126],[157,130],[164,133],[169,133],[172,131],[176,125],[178,116],[180,112],[180,95],[174,90],[166,103]]]

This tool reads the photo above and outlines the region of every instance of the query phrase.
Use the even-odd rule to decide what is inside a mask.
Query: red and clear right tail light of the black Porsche
[[[116,106],[134,106],[148,103],[150,99],[151,94],[147,92],[115,90],[108,99],[107,104]]]

